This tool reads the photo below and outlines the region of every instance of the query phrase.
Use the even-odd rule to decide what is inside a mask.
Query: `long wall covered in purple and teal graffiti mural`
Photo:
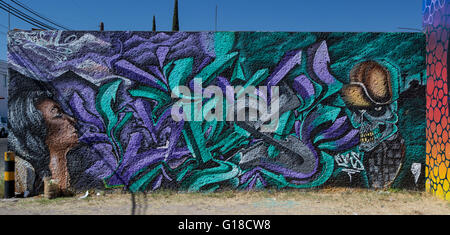
[[[45,176],[132,192],[425,185],[423,34],[16,31],[8,63],[9,149],[33,193]],[[242,95],[209,86],[256,87],[279,102],[276,128],[195,119]],[[180,100],[201,104],[193,120],[171,115]]]

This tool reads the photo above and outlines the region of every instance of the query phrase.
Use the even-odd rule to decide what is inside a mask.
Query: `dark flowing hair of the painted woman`
[[[43,89],[18,92],[8,100],[8,149],[33,166],[36,192],[42,190],[42,179],[51,175],[47,127],[36,105],[52,98],[52,93]]]

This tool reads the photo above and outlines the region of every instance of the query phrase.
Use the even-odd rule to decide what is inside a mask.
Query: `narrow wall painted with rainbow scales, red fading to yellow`
[[[448,125],[449,1],[424,1],[427,37],[427,164],[426,190],[450,200],[450,141]]]

